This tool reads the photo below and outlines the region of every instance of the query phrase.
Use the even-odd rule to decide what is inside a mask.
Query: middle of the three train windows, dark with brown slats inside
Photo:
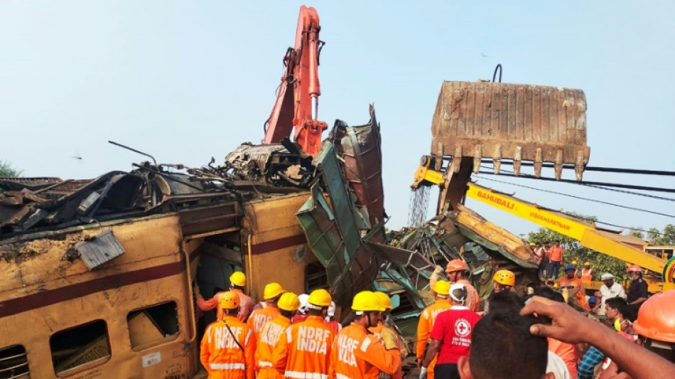
[[[108,326],[97,320],[58,331],[49,338],[49,347],[59,377],[89,370],[110,360]]]

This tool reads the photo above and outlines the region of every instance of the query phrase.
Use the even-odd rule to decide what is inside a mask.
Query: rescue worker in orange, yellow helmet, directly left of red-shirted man
[[[433,284],[433,298],[436,299],[436,302],[427,306],[422,313],[419,315],[419,323],[417,324],[417,343],[415,346],[415,355],[417,356],[417,363],[421,365],[424,360],[424,355],[426,354],[426,346],[431,341],[429,340],[429,335],[433,330],[433,323],[436,322],[436,316],[442,311],[447,311],[450,309],[450,300],[448,299],[448,294],[450,293],[450,283],[439,280]],[[428,379],[433,379],[433,368],[436,366],[436,359],[434,357],[431,363],[429,363],[426,368],[426,377]]]

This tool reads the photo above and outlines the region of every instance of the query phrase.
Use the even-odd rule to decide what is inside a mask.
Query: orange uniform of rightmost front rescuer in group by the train
[[[350,324],[338,333],[330,353],[330,379],[376,379],[382,371],[395,375],[401,370],[401,353],[387,350],[379,336],[360,325]]]

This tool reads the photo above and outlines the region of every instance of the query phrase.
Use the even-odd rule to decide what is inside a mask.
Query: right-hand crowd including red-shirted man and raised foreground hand
[[[435,303],[421,313],[416,343],[421,377],[675,378],[675,290],[647,298],[640,267],[627,269],[628,294],[605,273],[600,299],[588,301],[573,264],[524,297],[514,274],[499,270],[482,311],[465,306],[468,289],[455,278],[468,272],[458,267],[448,264],[450,282],[438,270],[431,278]]]

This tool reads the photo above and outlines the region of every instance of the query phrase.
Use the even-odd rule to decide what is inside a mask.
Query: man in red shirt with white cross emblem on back
[[[468,292],[464,284],[455,283],[450,287],[453,306],[436,316],[431,330],[431,343],[426,351],[422,367],[428,367],[438,353],[433,375],[436,378],[458,379],[457,362],[468,356],[471,348],[471,331],[480,316],[465,306]]]

